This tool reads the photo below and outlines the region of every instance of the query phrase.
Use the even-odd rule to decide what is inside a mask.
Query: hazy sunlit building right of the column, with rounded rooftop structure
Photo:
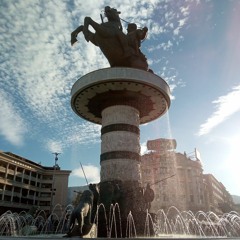
[[[168,144],[167,144],[168,142]],[[143,186],[150,184],[155,199],[150,212],[177,207],[181,211],[229,212],[231,195],[212,174],[203,174],[199,152],[177,153],[176,140],[156,139],[147,143],[141,158]]]

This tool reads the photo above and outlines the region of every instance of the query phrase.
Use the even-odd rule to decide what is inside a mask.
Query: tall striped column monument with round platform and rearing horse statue
[[[112,214],[110,205],[119,204],[124,230],[121,233],[116,228],[117,235],[125,237],[130,211],[136,231],[143,235],[154,193],[150,187],[144,190],[141,184],[139,125],[166,113],[170,89],[148,68],[140,51],[139,43],[145,38],[147,28],[137,29],[135,24],[129,24],[130,32],[126,35],[121,31],[119,12],[107,6],[105,14],[108,22],[97,24],[86,17],[84,25],[72,33],[72,44],[77,41],[77,34],[83,32],[86,40],[100,47],[111,67],[82,76],[72,87],[71,106],[81,118],[102,125],[99,204],[105,206],[107,217]],[[95,33],[88,29],[89,25]],[[100,237],[108,235],[105,224],[104,214],[99,214]]]

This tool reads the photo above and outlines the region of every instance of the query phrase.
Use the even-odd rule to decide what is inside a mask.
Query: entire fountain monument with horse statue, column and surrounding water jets
[[[89,228],[86,236],[143,239],[239,237],[240,216],[236,212],[222,216],[202,211],[194,214],[179,211],[174,206],[166,212],[163,209],[154,214],[149,212],[154,193],[151,188],[144,189],[141,185],[139,125],[167,112],[170,90],[167,83],[148,68],[146,57],[140,51],[140,41],[145,38],[147,28],[137,29],[135,24],[130,24],[126,35],[122,32],[119,12],[107,6],[105,14],[108,22],[97,24],[86,17],[84,25],[71,35],[73,44],[77,41],[77,34],[83,32],[87,41],[101,48],[111,66],[82,76],[71,92],[73,111],[87,121],[102,125],[101,181],[91,216],[92,226],[97,228],[94,231]],[[88,29],[89,25],[95,33]],[[79,208],[83,206],[86,207],[84,202]],[[71,205],[62,209],[61,215],[59,211],[56,214],[54,208],[48,217],[44,211],[34,216],[7,211],[0,216],[0,236],[61,238],[69,231],[73,212]],[[85,216],[81,217],[83,222]],[[79,236],[74,235],[74,231],[71,234]]]

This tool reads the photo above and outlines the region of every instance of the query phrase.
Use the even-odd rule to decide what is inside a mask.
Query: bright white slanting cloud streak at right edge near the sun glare
[[[213,128],[227,120],[234,113],[240,111],[240,85],[234,87],[230,93],[219,97],[212,103],[216,110],[214,113],[200,126],[197,133],[198,136],[208,134]]]

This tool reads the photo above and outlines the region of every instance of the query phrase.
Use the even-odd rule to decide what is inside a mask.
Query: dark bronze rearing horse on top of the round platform
[[[116,9],[107,6],[105,7],[107,22],[98,24],[90,17],[85,17],[84,25],[72,32],[71,44],[77,42],[77,35],[83,32],[86,41],[92,42],[101,49],[111,67],[133,67],[148,71],[147,59],[141,53],[139,44],[137,47],[132,46],[137,45],[140,40],[134,39],[135,43],[130,44],[133,42],[133,36],[135,37],[137,34],[132,32],[129,35],[122,32],[119,14],[120,12]],[[89,30],[89,25],[93,27],[95,33]]]

